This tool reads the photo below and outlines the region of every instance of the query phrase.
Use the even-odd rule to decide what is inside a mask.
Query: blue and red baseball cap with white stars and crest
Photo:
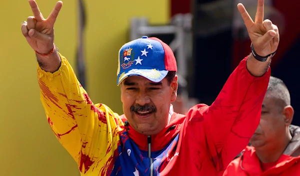
[[[120,48],[116,85],[128,76],[143,76],[159,82],[168,71],[177,71],[171,48],[158,38],[143,36]]]

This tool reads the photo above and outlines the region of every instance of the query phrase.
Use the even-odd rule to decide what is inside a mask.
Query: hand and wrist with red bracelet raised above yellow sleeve
[[[33,50],[40,54],[50,53],[53,49],[54,23],[62,6],[62,1],[58,1],[48,16],[44,19],[35,0],[29,0],[33,16],[29,16],[27,21],[21,23],[21,30],[28,44]],[[54,72],[59,68],[60,57],[54,48],[54,52],[47,56],[37,55],[37,61],[45,71]]]

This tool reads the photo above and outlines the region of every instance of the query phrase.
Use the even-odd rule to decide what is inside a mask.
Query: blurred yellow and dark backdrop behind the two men
[[[56,2],[36,1],[44,17]],[[63,0],[54,26],[55,44],[92,101],[122,114],[116,86],[118,50],[143,35],[159,37],[175,53],[179,90],[173,106],[185,113],[195,103],[210,105],[250,52],[238,2],[254,18],[256,0]],[[290,91],[294,125],[300,125],[298,9],[298,0],[265,0],[265,18],[280,31],[272,75]],[[79,176],[75,162],[52,134],[39,101],[35,54],[20,31],[20,23],[30,15],[27,0],[1,3],[0,176]]]

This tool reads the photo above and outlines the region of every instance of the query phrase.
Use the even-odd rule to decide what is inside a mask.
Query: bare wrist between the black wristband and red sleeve
[[[246,68],[252,76],[260,77],[267,71],[270,63],[271,57],[267,58],[266,61],[261,62],[256,60],[251,53],[247,58]]]

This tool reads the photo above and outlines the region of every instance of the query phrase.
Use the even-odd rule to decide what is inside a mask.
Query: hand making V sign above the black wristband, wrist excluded
[[[264,0],[258,0],[255,21],[251,19],[243,4],[238,3],[240,12],[255,52],[259,56],[267,56],[276,51],[279,43],[279,32],[276,25],[268,19],[263,20]]]

